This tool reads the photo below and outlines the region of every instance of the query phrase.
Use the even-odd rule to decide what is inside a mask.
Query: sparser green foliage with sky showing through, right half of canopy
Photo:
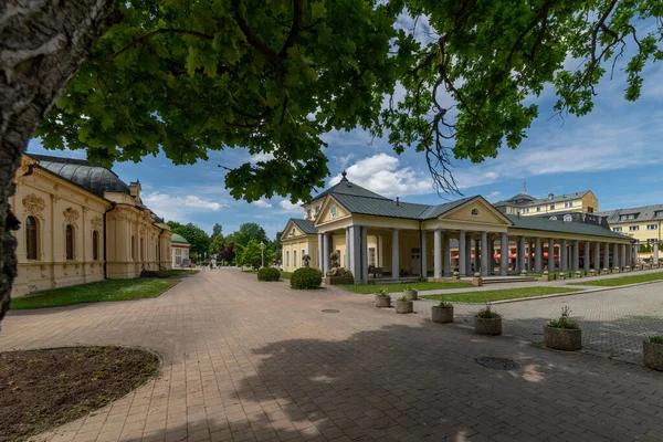
[[[640,97],[646,64],[663,60],[660,0],[402,4],[420,19],[398,40],[399,53],[410,54],[403,55],[408,75],[399,78],[406,96],[391,96],[385,126],[373,133],[387,128],[397,152],[410,146],[424,152],[439,191],[457,191],[451,156],[481,162],[504,144],[516,148],[539,115],[546,85],[557,94],[560,117],[581,116],[592,110],[594,87],[612,77],[619,59],[630,56],[623,64],[628,101]]]

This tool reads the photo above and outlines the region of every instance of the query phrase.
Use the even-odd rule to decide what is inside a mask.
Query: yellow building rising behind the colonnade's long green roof
[[[532,217],[547,213],[593,213],[599,210],[599,200],[591,190],[559,196],[548,193],[547,198],[538,199],[527,193],[518,193],[493,206],[506,214]]]

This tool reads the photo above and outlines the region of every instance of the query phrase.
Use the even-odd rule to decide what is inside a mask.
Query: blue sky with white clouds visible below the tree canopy
[[[642,97],[623,99],[621,75],[606,78],[597,88],[594,110],[585,117],[552,117],[554,96],[546,91],[536,102],[539,118],[516,150],[502,149],[497,158],[480,165],[454,161],[454,173],[465,196],[483,194],[490,201],[523,191],[535,197],[592,190],[600,210],[663,203],[663,65],[645,73]],[[552,117],[552,118],[551,118]],[[347,169],[348,178],[364,187],[401,200],[435,204],[443,202],[432,189],[422,154],[397,156],[383,139],[356,129],[325,136],[335,182]],[[33,139],[28,151],[82,158],[84,151],[46,151]],[[113,170],[126,182],[139,179],[143,200],[167,220],[193,222],[208,232],[214,223],[230,233],[243,222],[260,223],[270,238],[290,218],[302,218],[302,209],[287,199],[254,203],[230,197],[223,169],[257,160],[246,150],[210,152],[209,161],[173,166],[162,155],[139,164],[116,164]],[[449,196],[449,199],[459,197]]]

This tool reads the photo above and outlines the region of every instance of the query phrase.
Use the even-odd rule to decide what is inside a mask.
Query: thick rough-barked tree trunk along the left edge
[[[12,179],[42,117],[115,11],[115,0],[0,1],[0,320],[17,276]]]

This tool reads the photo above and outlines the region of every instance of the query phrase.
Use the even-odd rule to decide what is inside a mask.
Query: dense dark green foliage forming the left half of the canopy
[[[245,147],[273,159],[228,169],[233,197],[306,199],[328,175],[320,135],[376,124],[394,84],[389,51],[401,9],[375,0],[118,2],[122,20],[39,135],[48,148],[86,148],[106,166],[159,150],[193,164],[209,149]]]

